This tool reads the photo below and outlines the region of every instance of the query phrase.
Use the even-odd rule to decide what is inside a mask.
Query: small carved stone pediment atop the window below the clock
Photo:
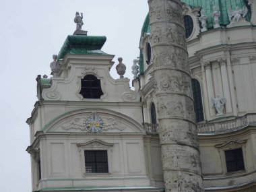
[[[114,143],[106,143],[98,139],[94,139],[86,143],[77,143],[77,147],[79,148],[79,151],[80,150],[104,150],[104,149],[112,148],[113,146],[114,146]]]

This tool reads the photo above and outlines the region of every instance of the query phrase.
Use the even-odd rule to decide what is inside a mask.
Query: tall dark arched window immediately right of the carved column
[[[203,104],[201,98],[201,87],[197,79],[192,79],[192,90],[193,90],[193,99],[194,99],[194,110],[195,110],[195,119],[197,122],[203,121]]]

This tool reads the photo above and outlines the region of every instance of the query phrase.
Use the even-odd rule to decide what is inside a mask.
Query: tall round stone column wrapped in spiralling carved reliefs
[[[204,190],[181,1],[148,0],[148,5],[165,190],[201,192]]]

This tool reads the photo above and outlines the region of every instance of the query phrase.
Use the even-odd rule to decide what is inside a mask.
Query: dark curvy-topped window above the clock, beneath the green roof
[[[94,75],[86,75],[84,79],[81,79],[81,91],[84,98],[100,98],[103,92],[100,87],[100,79],[97,79]]]

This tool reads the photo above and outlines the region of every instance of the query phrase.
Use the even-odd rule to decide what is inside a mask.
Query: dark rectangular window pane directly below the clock
[[[108,154],[106,150],[84,151],[86,172],[108,172]]]

